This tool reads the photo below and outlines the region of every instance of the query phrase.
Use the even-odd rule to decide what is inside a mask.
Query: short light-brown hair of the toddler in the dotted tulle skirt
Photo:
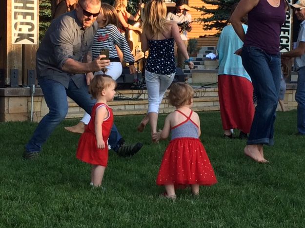
[[[170,87],[167,95],[169,104],[175,107],[189,105],[194,96],[193,88],[185,82],[176,82]]]

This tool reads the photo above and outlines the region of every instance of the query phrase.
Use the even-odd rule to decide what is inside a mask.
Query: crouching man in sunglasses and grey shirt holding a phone
[[[87,84],[92,78],[85,73],[100,71],[109,65],[100,55],[88,62],[87,54],[97,31],[95,21],[100,13],[101,0],[79,0],[76,9],[54,19],[41,41],[36,54],[39,84],[49,108],[26,145],[23,157],[32,159],[41,152],[42,144],[65,118],[68,112],[67,96],[87,113],[91,113],[95,100],[88,94]],[[115,125],[109,145],[120,155],[133,155],[142,144],[124,145],[124,139]]]

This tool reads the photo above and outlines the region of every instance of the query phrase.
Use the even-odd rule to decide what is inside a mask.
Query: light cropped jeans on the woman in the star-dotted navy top
[[[147,113],[159,113],[159,106],[167,88],[171,85],[175,73],[171,75],[160,75],[145,70],[145,82],[148,93]]]

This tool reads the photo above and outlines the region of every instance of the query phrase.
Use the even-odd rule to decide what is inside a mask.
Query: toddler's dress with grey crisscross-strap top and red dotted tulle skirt
[[[210,160],[198,137],[198,126],[190,118],[192,114],[193,111],[189,116],[183,114],[186,119],[171,128],[171,141],[163,155],[157,185],[185,187],[217,183]]]

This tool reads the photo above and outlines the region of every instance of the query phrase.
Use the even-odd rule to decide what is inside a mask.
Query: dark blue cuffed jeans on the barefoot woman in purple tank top
[[[280,53],[270,55],[258,47],[243,47],[242,59],[257,96],[247,145],[273,145],[273,125],[281,81]]]

